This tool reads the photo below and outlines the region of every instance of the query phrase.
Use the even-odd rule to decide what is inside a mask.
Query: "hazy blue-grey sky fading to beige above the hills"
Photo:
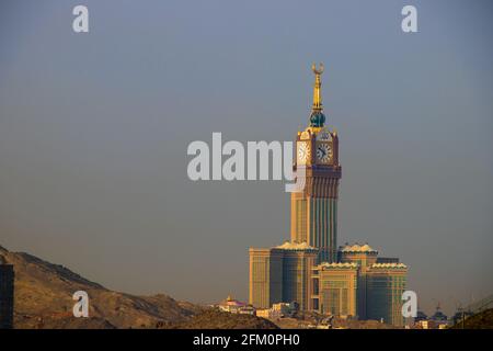
[[[72,32],[89,8],[90,33]],[[414,4],[419,33],[401,31]],[[323,61],[339,242],[409,264],[451,313],[493,292],[490,1],[0,4],[0,245],[110,288],[248,298],[248,248],[289,238],[280,181],[192,182],[187,145],[293,140]]]

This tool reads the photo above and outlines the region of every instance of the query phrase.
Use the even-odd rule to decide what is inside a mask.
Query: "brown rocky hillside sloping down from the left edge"
[[[14,265],[15,328],[154,328],[185,322],[203,308],[167,295],[135,296],[113,292],[69,269],[0,246]],[[72,316],[72,294],[85,291],[90,318]]]

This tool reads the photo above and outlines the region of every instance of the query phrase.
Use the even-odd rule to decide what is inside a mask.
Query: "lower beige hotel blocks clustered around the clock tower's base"
[[[346,245],[339,257],[317,264],[318,250],[305,242],[250,249],[250,304],[268,309],[296,302],[300,310],[403,326],[406,265],[378,258],[367,244]]]

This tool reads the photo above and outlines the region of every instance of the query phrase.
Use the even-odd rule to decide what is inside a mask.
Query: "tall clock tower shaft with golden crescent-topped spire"
[[[319,262],[335,262],[341,179],[339,137],[335,128],[325,126],[321,98],[323,65],[319,68],[313,65],[312,70],[316,80],[310,124],[296,137],[294,170],[297,177],[305,177],[305,189],[291,193],[291,241],[319,249]]]

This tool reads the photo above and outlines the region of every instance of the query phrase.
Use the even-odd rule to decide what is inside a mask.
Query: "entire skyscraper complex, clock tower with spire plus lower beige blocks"
[[[321,100],[323,66],[316,75],[309,126],[298,132],[294,170],[305,189],[291,193],[291,240],[250,249],[250,303],[268,308],[293,303],[300,310],[403,325],[408,268],[379,258],[369,245],[336,249],[341,165],[339,137],[325,126]]]

